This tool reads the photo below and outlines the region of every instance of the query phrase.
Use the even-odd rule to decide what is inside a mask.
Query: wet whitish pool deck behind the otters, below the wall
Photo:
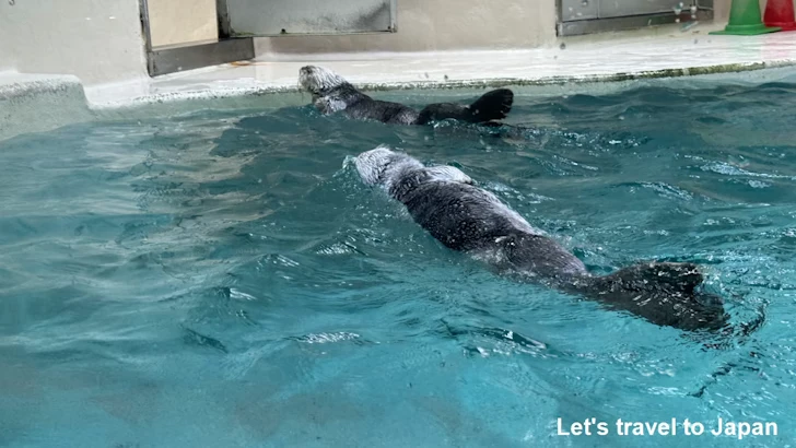
[[[367,90],[549,85],[796,66],[796,32],[707,34],[715,28],[670,26],[652,34],[581,36],[552,48],[529,50],[290,55],[159,76],[138,97],[120,96],[108,89],[89,89],[86,94],[98,107],[115,107],[202,95],[295,92],[298,69],[306,63],[328,67]]]

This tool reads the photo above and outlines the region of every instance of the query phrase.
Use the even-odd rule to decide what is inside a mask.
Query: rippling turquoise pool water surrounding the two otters
[[[793,110],[796,85],[643,89],[517,97],[527,129],[500,135],[295,107],[0,142],[0,446],[791,446]],[[596,271],[703,263],[734,321],[765,322],[716,350],[496,278],[361,185],[346,160],[381,143],[458,166]],[[558,434],[592,417],[610,433]]]

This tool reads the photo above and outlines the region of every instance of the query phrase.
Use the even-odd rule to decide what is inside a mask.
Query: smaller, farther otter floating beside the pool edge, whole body
[[[487,123],[505,118],[514,103],[511,90],[497,89],[471,105],[435,103],[418,111],[400,103],[373,99],[339,74],[317,66],[302,67],[298,82],[313,94],[313,104],[321,114],[341,113],[352,119],[390,125],[428,125],[445,119]]]

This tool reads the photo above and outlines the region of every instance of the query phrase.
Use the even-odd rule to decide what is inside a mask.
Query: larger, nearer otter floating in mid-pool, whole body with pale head
[[[660,326],[718,330],[728,322],[721,297],[698,292],[703,276],[693,263],[639,263],[593,275],[577,257],[457,168],[425,167],[383,146],[360,154],[355,165],[365,184],[384,187],[443,245],[485,260],[502,273]]]

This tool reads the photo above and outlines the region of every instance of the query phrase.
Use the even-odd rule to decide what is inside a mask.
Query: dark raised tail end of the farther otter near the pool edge
[[[428,125],[432,121],[456,119],[472,123],[483,123],[506,118],[514,104],[514,92],[508,89],[497,89],[487,92],[469,106],[454,103],[430,104],[420,111],[418,125]]]

